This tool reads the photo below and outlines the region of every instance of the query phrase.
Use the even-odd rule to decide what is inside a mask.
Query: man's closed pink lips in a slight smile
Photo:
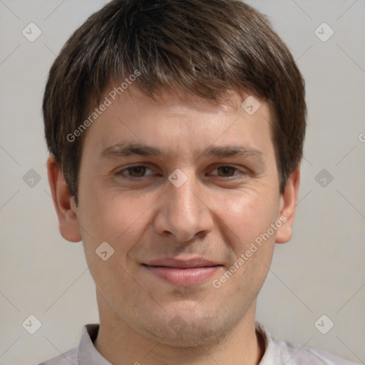
[[[187,287],[209,279],[222,264],[200,257],[187,260],[165,258],[143,264],[143,267],[165,282]]]

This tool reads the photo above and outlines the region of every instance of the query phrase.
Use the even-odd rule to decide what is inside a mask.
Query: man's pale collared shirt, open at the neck
[[[273,339],[267,327],[259,322],[256,322],[256,329],[265,341],[264,356],[259,365],[355,365],[354,362],[341,359],[324,350]],[[82,329],[78,347],[39,365],[112,365],[93,345],[98,330],[99,324],[86,324]]]

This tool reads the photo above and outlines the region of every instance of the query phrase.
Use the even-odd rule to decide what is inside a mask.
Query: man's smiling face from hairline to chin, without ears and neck
[[[169,92],[153,101],[135,86],[129,91],[109,97],[86,132],[73,210],[101,318],[156,341],[194,346],[255,317],[274,242],[289,239],[290,223],[275,223],[285,203],[269,108],[260,101],[250,115],[237,94],[233,107]],[[113,153],[118,143],[148,153]],[[232,153],[237,148],[242,153]],[[113,255],[106,244],[98,249],[102,242]],[[101,259],[101,251],[110,257]]]

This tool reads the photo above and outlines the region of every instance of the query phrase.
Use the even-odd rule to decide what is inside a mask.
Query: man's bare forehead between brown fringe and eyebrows
[[[250,141],[245,150],[252,152],[258,150],[255,145],[267,143],[271,134],[269,106],[247,93],[230,92],[220,101],[208,101],[198,96],[160,91],[154,100],[135,85],[117,96],[111,94],[113,90],[111,86],[106,88],[96,108],[98,113],[103,111],[88,127],[86,138],[86,144],[92,145],[93,151],[102,157],[112,153],[113,146],[120,143],[170,144],[170,153],[173,150],[177,153],[179,147],[188,145],[202,150],[201,147],[213,144],[217,147],[223,141],[226,147],[227,143],[237,146]],[[257,110],[251,113],[252,108]],[[95,110],[91,113],[96,113]],[[158,154],[164,153],[168,152],[159,148]]]

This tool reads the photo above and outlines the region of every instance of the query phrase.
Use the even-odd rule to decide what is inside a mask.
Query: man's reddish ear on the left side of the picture
[[[48,157],[47,173],[61,236],[70,242],[80,242],[77,207],[53,155]]]

